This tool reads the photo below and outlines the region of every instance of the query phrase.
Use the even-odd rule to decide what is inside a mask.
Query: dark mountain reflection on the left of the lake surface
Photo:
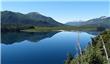
[[[38,42],[39,40],[52,37],[56,33],[58,32],[36,32],[36,33],[7,32],[1,33],[1,42],[3,44],[13,44],[15,42],[21,42],[24,40]]]

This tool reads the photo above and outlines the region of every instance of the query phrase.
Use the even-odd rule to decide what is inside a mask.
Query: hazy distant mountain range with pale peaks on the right
[[[101,26],[110,28],[110,17],[102,16],[95,19],[90,19],[88,21],[78,21],[78,22],[68,22],[66,25],[70,26]]]

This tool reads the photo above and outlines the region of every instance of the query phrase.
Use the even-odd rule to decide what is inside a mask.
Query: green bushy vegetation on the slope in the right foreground
[[[104,40],[108,58],[110,58],[110,30],[106,30],[100,35]],[[82,55],[79,55],[73,59],[68,59],[72,57],[69,55],[65,61],[65,64],[108,64],[103,44],[101,43],[101,39],[99,37],[100,35],[92,38],[92,44],[84,50]]]

